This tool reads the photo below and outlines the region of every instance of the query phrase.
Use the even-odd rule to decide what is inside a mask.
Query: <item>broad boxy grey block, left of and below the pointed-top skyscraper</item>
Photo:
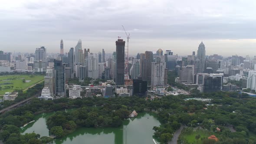
[[[194,67],[192,67],[192,65],[181,67],[181,74],[180,74],[181,83],[193,83],[193,79],[194,79],[193,74],[194,74]]]

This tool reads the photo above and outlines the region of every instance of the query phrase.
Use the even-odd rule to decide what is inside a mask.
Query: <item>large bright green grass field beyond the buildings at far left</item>
[[[23,79],[26,82],[23,82]],[[0,95],[5,92],[13,92],[14,90],[24,90],[44,79],[43,75],[5,75],[0,76]],[[5,84],[3,83],[12,83]]]

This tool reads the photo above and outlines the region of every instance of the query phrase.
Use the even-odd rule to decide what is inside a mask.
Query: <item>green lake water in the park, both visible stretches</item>
[[[35,122],[23,128],[22,133],[35,132],[49,136],[46,119],[54,112],[36,115]],[[118,128],[79,128],[75,132],[55,140],[56,144],[153,144],[154,126],[160,122],[153,113],[139,113],[137,118],[127,119]]]

